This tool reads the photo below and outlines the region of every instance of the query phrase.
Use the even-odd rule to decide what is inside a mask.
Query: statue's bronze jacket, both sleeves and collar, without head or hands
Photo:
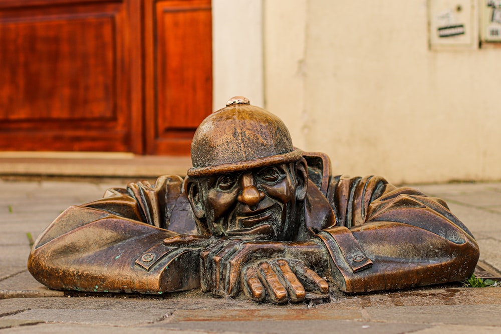
[[[325,246],[346,292],[421,286],[471,275],[478,246],[446,203],[381,177],[330,175],[328,158],[306,153],[305,224]],[[130,183],[72,206],[38,237],[28,268],[54,289],[164,293],[200,286],[201,247],[165,246],[197,229],[179,176]]]

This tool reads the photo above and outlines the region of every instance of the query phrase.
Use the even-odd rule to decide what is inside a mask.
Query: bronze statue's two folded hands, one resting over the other
[[[218,239],[200,252],[200,285],[204,291],[216,295],[234,296],[241,283],[254,300],[266,297],[274,302],[285,302],[288,298],[301,301],[305,298],[305,289],[328,292],[327,282],[308,268],[323,267],[324,252],[324,248],[313,241]],[[298,258],[310,262],[305,264]],[[278,292],[279,286],[285,289],[285,296]]]

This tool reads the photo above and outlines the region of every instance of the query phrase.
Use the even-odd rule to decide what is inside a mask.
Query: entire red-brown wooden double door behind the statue
[[[0,150],[189,154],[211,49],[210,0],[0,0]]]

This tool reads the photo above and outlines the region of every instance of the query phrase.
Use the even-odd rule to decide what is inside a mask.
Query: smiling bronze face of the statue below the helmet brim
[[[199,180],[199,200],[212,235],[291,240],[298,179],[295,164],[278,164]],[[300,183],[304,185],[304,180]]]

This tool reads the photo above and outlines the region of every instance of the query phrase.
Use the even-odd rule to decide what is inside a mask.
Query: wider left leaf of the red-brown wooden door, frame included
[[[142,153],[137,0],[0,0],[0,150]]]

